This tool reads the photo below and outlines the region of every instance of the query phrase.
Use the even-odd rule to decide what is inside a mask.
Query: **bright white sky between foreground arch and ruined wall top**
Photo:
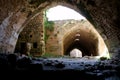
[[[74,20],[86,19],[76,11],[61,5],[50,8],[46,13],[47,13],[46,16],[48,18],[48,21],[67,20],[67,19],[74,19]]]

